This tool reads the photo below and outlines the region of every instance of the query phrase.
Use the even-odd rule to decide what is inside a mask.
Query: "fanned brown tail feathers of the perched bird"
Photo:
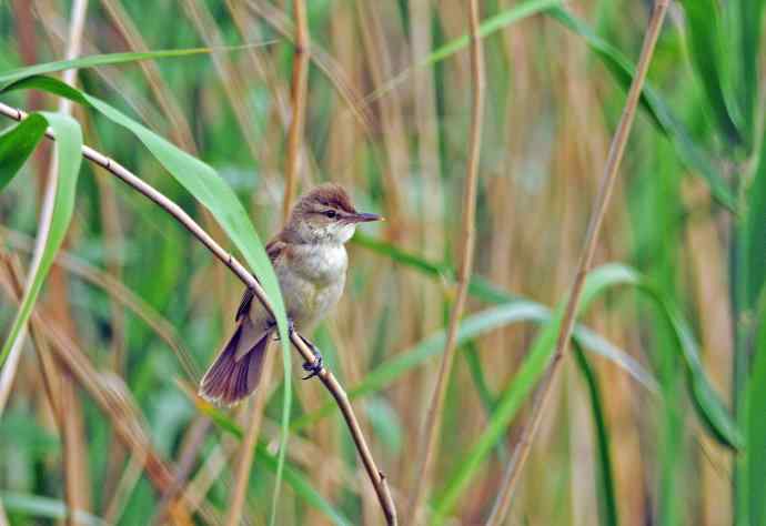
[[[208,402],[234,405],[255,391],[261,380],[263,356],[271,333],[264,333],[248,352],[240,351],[238,355],[242,331],[242,324],[238,325],[231,340],[200,382],[200,396]]]

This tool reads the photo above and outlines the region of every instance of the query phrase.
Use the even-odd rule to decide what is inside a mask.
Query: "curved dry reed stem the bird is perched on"
[[[13,119],[16,121],[21,121],[27,118],[27,114],[23,111],[9,107],[2,102],[0,102],[0,114]],[[54,140],[53,134],[50,130],[46,132],[46,136],[48,136],[51,140]],[[240,263],[232,254],[223,250],[223,247],[219,245],[215,242],[215,240],[213,240],[210,236],[210,234],[208,234],[208,232],[204,231],[199,225],[199,223],[196,223],[175,202],[171,201],[164,194],[154,189],[152,185],[148,184],[138,175],[130,172],[122,164],[93,150],[92,148],[83,145],[82,155],[88,161],[103,168],[112,175],[119,178],[122,182],[131,186],[133,190],[140,192],[149,200],[153,201],[157,205],[162,208],[170,215],[172,215],[194,237],[196,237],[198,241],[200,241],[208,250],[210,250],[210,252],[212,252],[212,254],[215,257],[223,262],[223,264],[225,264],[236,275],[236,277],[239,277],[240,281],[242,281],[242,283],[252,289],[255,294],[255,297],[263,305],[266,312],[273,314],[271,302],[269,301],[266,293],[263,291],[263,287],[258,282],[258,280],[255,280],[255,277],[248,271],[248,269],[245,269],[244,265],[242,265],[242,263]],[[298,334],[298,332],[293,332],[291,334],[290,341],[292,342],[293,346],[298,350],[298,352],[301,354],[303,360],[305,360],[306,362],[313,362],[315,360],[314,353],[309,348],[309,346],[302,340],[302,336]],[[367,472],[367,476],[370,477],[370,481],[373,487],[375,488],[375,494],[377,495],[377,499],[386,517],[386,522],[389,524],[397,524],[396,508],[394,506],[393,498],[391,497],[391,492],[389,490],[389,485],[385,481],[385,476],[382,472],[377,469],[377,466],[375,465],[375,461],[372,457],[372,453],[367,447],[362,429],[360,428],[359,422],[356,421],[356,416],[354,415],[353,407],[349,402],[349,396],[346,395],[345,391],[337,382],[337,380],[335,380],[333,374],[326,367],[323,367],[321,370],[318,377],[320,378],[322,384],[324,384],[325,388],[330,392],[330,394],[333,396],[335,403],[341,409],[341,413],[343,414],[343,418],[345,419],[346,425],[349,426],[349,431],[354,441],[354,445],[356,446],[356,451],[359,452],[362,458],[362,463],[364,464],[364,468]]]

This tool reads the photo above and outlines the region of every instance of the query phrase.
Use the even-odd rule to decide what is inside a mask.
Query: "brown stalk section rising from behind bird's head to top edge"
[[[303,0],[293,0],[295,10],[295,52],[293,54],[293,82],[290,89],[291,120],[288,133],[288,163],[285,166],[284,200],[282,202],[282,220],[288,221],[292,202],[298,191],[298,178],[301,170],[301,143],[303,142],[303,123],[305,121],[306,89],[309,80],[309,58],[311,57],[311,40],[309,37],[309,21]]]

